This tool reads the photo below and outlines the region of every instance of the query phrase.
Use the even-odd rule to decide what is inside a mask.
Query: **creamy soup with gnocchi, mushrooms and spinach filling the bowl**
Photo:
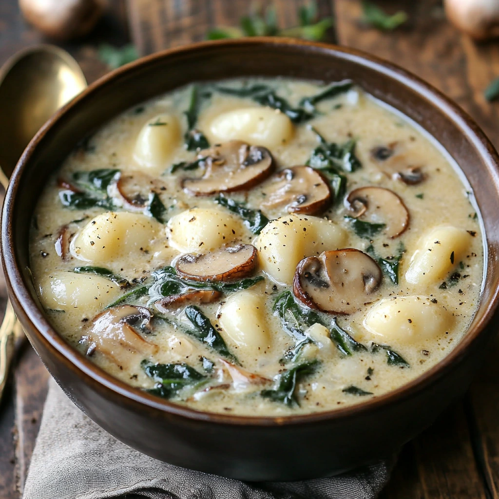
[[[48,180],[33,279],[55,329],[125,383],[200,411],[330,410],[467,331],[484,252],[465,182],[353,82],[191,85]]]

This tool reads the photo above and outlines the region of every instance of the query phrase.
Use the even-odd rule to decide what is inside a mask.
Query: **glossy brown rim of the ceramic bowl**
[[[426,100],[429,100],[433,106],[437,107],[440,112],[445,114],[458,126],[462,134],[467,136],[468,140],[472,142],[473,146],[483,158],[488,170],[495,177],[496,191],[499,192],[499,156],[490,140],[486,137],[476,122],[463,109],[461,109],[461,107],[418,76],[396,64],[357,49],[343,46],[340,47],[333,44],[298,40],[294,38],[251,37],[242,39],[203,41],[182,47],[166,49],[146,57],[142,57],[136,61],[115,69],[89,85],[73,100],[57,111],[42,126],[24,150],[15,167],[5,194],[2,209],[2,221],[11,220],[20,179],[26,170],[26,166],[29,165],[31,157],[36,153],[36,149],[40,141],[49,129],[57,125],[62,116],[70,113],[71,110],[81,101],[88,98],[91,99],[92,94],[98,88],[113,82],[114,80],[120,78],[123,74],[133,72],[134,70],[149,64],[154,64],[156,61],[168,58],[172,55],[193,51],[202,52],[204,50],[213,50],[214,48],[223,50],[224,47],[237,48],[239,46],[243,48],[261,45],[268,47],[269,50],[279,47],[291,47],[297,52],[301,51],[302,53],[306,53],[307,51],[324,52],[329,54],[330,57],[336,59],[349,60],[359,63],[370,70],[383,73],[385,76],[397,80],[404,86],[410,87],[412,91],[424,97]],[[484,234],[484,239],[486,240],[486,238],[487,234]],[[485,333],[486,326],[492,319],[499,305],[499,287],[496,287],[491,293],[489,301],[485,305],[486,308],[483,316],[478,320],[478,322],[473,324],[472,328],[468,329],[462,340],[456,347],[454,347],[453,350],[451,350],[448,355],[417,378],[378,397],[373,397],[357,404],[327,411],[290,416],[242,416],[209,413],[169,402],[168,400],[143,392],[140,388],[127,385],[123,381],[114,378],[112,375],[102,370],[90,359],[84,357],[74,347],[67,343],[62,336],[60,336],[52,328],[41,309],[31,297],[31,293],[28,286],[24,282],[22,272],[20,271],[20,265],[17,262],[11,224],[7,223],[1,224],[1,256],[9,295],[11,300],[16,303],[16,308],[19,310],[19,314],[23,316],[23,321],[29,323],[31,326],[30,330],[35,331],[38,338],[47,345],[47,348],[52,349],[52,352],[58,357],[58,362],[64,362],[69,368],[76,369],[80,372],[80,374],[83,374],[86,384],[93,384],[111,390],[118,397],[122,397],[120,403],[137,404],[138,407],[143,410],[155,409],[172,416],[223,425],[244,425],[253,427],[308,425],[326,420],[342,420],[353,416],[360,416],[361,414],[365,414],[367,412],[384,409],[389,404],[402,402],[409,397],[414,397],[417,393],[425,390],[437,379],[440,379],[446,373],[455,368],[455,366],[465,357],[466,351],[471,347],[471,345],[476,343],[478,338]]]

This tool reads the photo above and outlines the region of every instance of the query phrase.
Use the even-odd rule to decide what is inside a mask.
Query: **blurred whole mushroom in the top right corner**
[[[499,36],[499,0],[445,0],[448,19],[476,40]]]

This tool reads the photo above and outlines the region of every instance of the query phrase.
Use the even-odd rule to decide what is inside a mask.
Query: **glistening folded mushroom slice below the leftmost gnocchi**
[[[136,329],[151,329],[151,312],[145,307],[120,305],[100,312],[85,337],[91,343],[87,354],[96,348],[123,365],[136,354],[156,353],[158,346],[146,341]]]

